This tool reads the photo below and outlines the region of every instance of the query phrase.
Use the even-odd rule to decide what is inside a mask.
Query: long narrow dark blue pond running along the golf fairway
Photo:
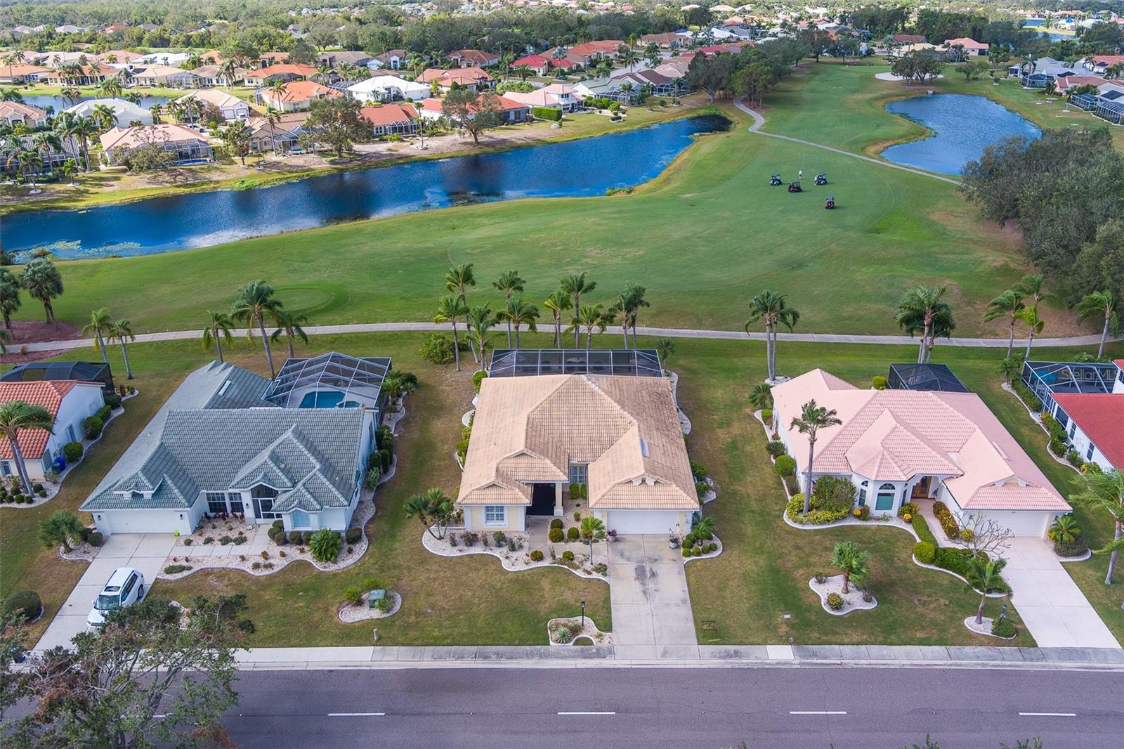
[[[588,115],[596,117],[597,115]],[[656,177],[716,115],[591,138],[338,172],[247,190],[148,198],[87,210],[0,218],[9,252],[48,246],[60,258],[139,255],[447,206],[604,195]]]

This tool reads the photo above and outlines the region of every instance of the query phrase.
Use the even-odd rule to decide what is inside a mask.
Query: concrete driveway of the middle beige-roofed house
[[[609,547],[609,599],[618,658],[697,658],[687,575],[665,535],[622,535]]]

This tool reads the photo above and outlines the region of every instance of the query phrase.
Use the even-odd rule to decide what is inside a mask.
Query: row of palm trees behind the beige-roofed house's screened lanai
[[[445,274],[445,289],[450,296],[437,303],[437,310],[433,318],[435,323],[450,324],[453,327],[456,371],[461,369],[459,327],[461,323],[464,324],[468,334],[472,360],[481,366],[484,363],[484,352],[491,348],[488,334],[496,325],[504,324],[507,327],[507,345],[516,350],[522,344],[520,331],[526,328],[532,333],[538,332],[541,313],[537,305],[523,297],[526,281],[518,271],[504,271],[492,282],[492,287],[504,292],[502,306],[495,312],[490,303],[469,305],[468,289],[475,285],[477,280],[471,263],[450,268],[448,273]],[[573,333],[573,345],[579,348],[581,334],[584,333],[586,349],[590,349],[592,348],[593,333],[604,333],[609,325],[619,324],[625,348],[636,348],[636,319],[642,308],[651,306],[645,299],[646,289],[628,281],[617,295],[616,301],[609,307],[606,308],[604,304],[582,306],[582,296],[592,292],[596,288],[597,282],[590,281],[584,272],[573,273],[564,277],[559,282],[558,290],[543,300],[543,307],[549,309],[553,317],[554,345],[564,349],[563,334]],[[569,323],[563,328],[566,321]],[[629,332],[632,333],[631,341]],[[662,350],[670,354],[673,349],[674,345],[667,341]]]

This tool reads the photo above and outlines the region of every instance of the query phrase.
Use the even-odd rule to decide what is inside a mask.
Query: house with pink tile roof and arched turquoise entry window
[[[906,502],[943,502],[981,514],[1016,535],[1042,536],[1070,511],[1041,469],[973,392],[860,389],[821,369],[772,389],[773,418],[807,489],[808,440],[790,423],[809,400],[836,412],[822,428],[818,476],[850,478],[858,505],[897,513]]]

